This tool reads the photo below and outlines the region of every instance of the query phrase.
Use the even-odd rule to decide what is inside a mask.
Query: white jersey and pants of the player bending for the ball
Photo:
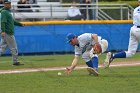
[[[95,44],[95,41],[93,40],[92,35],[92,33],[84,33],[77,37],[79,44],[75,45],[75,56],[83,54],[82,58],[85,62],[90,61],[94,56],[98,57],[97,54],[93,54],[92,46]],[[105,52],[108,47],[107,40],[98,36],[98,42],[101,44],[102,53]]]

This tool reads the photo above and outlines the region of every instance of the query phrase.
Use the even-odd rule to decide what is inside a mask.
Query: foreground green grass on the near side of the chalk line
[[[140,68],[99,69],[100,76],[85,69],[71,76],[58,71],[0,75],[0,93],[139,93]],[[62,71],[61,71],[62,72]]]

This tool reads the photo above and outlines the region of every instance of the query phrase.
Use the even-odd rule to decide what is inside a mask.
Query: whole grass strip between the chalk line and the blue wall
[[[99,64],[102,64],[105,59],[103,54],[99,56]],[[47,68],[47,67],[64,67],[69,66],[74,58],[74,55],[46,55],[46,56],[19,56],[19,61],[24,63],[24,66],[12,66],[11,56],[0,57],[0,70],[4,69],[21,69],[21,68]],[[115,59],[114,62],[134,62],[140,60],[140,53],[137,53],[131,58]],[[85,65],[85,62],[80,59],[78,65]]]

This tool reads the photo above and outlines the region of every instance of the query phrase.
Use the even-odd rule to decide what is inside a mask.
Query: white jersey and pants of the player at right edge
[[[134,26],[130,29],[129,46],[128,51],[126,51],[126,57],[131,57],[136,53],[140,42],[140,6],[134,9],[133,24]]]

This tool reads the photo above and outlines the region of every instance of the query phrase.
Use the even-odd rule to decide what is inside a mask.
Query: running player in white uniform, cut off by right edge
[[[139,6],[134,9],[133,12],[133,26],[130,29],[130,38],[128,51],[122,51],[116,54],[108,52],[106,55],[106,59],[104,62],[105,68],[108,68],[110,63],[115,58],[127,58],[132,57],[138,48],[138,44],[140,43],[140,0],[138,0]]]

